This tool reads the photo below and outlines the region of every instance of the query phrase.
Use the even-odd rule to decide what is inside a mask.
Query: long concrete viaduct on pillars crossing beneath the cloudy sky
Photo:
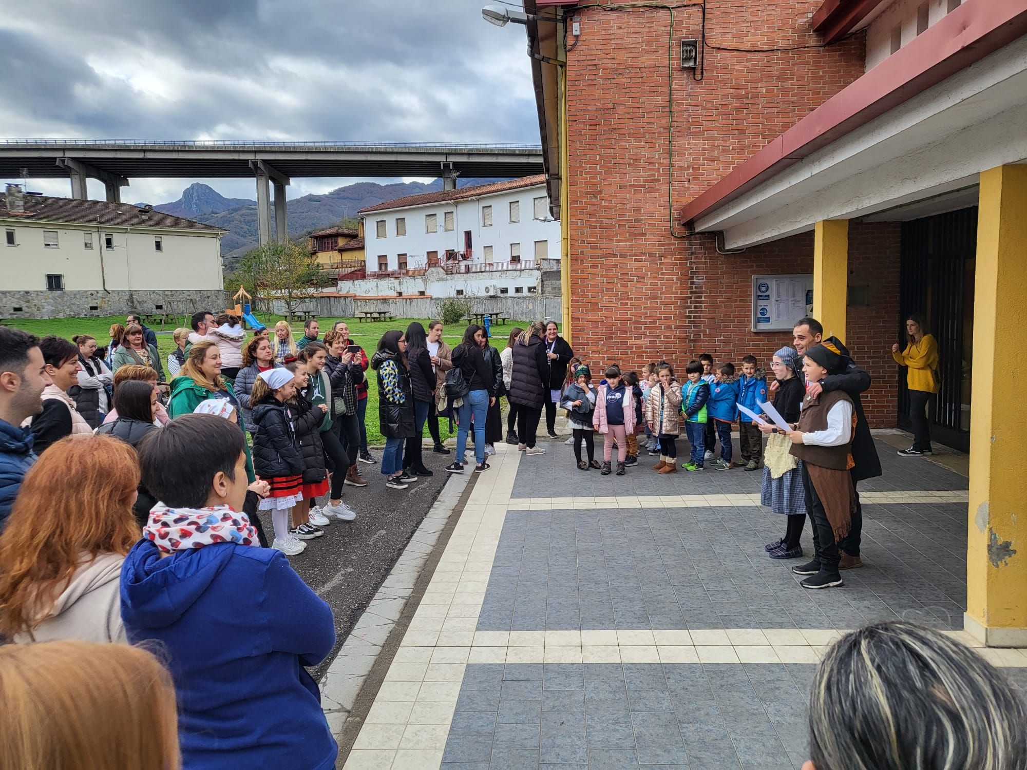
[[[260,242],[287,237],[286,187],[293,177],[442,177],[446,189],[467,177],[528,177],[542,172],[538,145],[408,144],[390,142],[206,142],[132,140],[0,140],[0,179],[69,177],[73,198],[86,199],[86,180],[121,201],[132,177],[252,177],[257,181]]]

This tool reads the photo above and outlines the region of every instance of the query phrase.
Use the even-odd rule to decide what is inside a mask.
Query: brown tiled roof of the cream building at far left
[[[161,230],[206,230],[225,233],[220,227],[155,211],[130,203],[108,203],[106,200],[54,198],[48,195],[26,195],[25,211],[10,213],[6,200],[0,197],[0,218],[41,222],[63,222],[80,225],[115,225],[121,227],[154,227]]]

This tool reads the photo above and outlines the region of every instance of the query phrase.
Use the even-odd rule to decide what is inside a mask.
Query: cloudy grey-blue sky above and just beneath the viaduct
[[[486,23],[483,0],[12,5],[0,138],[539,141],[524,28]],[[175,200],[195,181],[255,197],[223,179],[134,179],[122,197]],[[353,181],[297,179],[289,197]],[[64,180],[29,187],[70,194]]]

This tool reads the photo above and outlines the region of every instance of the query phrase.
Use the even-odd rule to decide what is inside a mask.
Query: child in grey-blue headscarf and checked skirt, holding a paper
[[[782,419],[790,425],[799,421],[802,397],[805,394],[797,363],[795,348],[784,347],[774,353],[770,364],[777,379],[777,394],[773,406]],[[802,555],[799,538],[806,524],[802,461],[790,452],[792,439],[779,430],[775,431],[772,423],[765,422],[758,427],[768,436],[760,502],[774,513],[788,516],[785,537],[767,543],[765,549],[770,559],[798,559]]]

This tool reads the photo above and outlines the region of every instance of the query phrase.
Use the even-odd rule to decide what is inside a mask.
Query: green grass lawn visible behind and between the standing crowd
[[[257,317],[269,328],[273,328],[277,321],[281,320],[281,316],[267,315],[265,313],[260,313]],[[56,335],[70,340],[75,335],[89,334],[97,338],[98,344],[104,345],[108,342],[109,338],[107,335],[111,324],[124,323],[124,316],[109,316],[106,318],[50,318],[41,320],[20,318],[17,320],[7,320],[4,322],[8,325],[24,329],[26,332],[31,332],[39,337]],[[375,347],[378,345],[378,340],[381,339],[381,336],[385,332],[393,329],[405,330],[407,325],[414,320],[421,321],[425,329],[427,329],[429,319],[396,318],[394,321],[373,321],[368,323],[357,322],[356,318],[318,318],[317,320],[320,324],[322,337],[325,333],[332,328],[332,324],[335,321],[346,321],[349,325],[350,337],[352,337],[353,341],[367,351],[368,357],[370,358],[374,353]],[[493,344],[500,349],[506,347],[506,337],[509,334],[509,330],[514,326],[521,326],[522,329],[525,329],[527,325],[528,321],[510,321],[505,325],[493,328]],[[302,323],[293,323],[292,328],[294,336],[300,337],[303,334]],[[462,323],[448,326],[444,330],[443,339],[445,339],[446,343],[452,347],[460,341],[460,337],[462,336],[464,329],[465,326]],[[167,355],[175,349],[175,341],[172,340],[172,332],[174,330],[174,325],[164,326],[163,332],[156,328],[153,329],[153,331],[157,334],[157,350],[160,353],[161,365],[166,365]],[[381,445],[384,444],[384,439],[382,438],[381,431],[378,427],[378,388],[374,384],[374,372],[370,370],[368,371],[368,380],[371,384],[371,387],[368,388],[368,442],[371,445]],[[442,431],[443,438],[450,435],[448,428],[448,420],[440,422],[440,429]],[[456,426],[454,425],[454,430]]]

